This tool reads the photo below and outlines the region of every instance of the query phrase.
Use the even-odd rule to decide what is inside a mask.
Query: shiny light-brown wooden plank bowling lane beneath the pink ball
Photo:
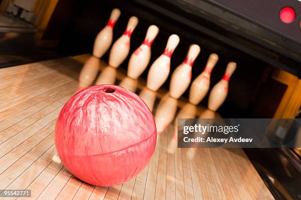
[[[81,67],[89,57],[0,69],[0,189],[30,189],[31,198],[19,198],[25,200],[273,199],[242,149],[177,148],[176,119],[168,120],[158,136],[149,165],[128,182],[95,187],[72,176],[53,161],[57,155],[54,127],[60,109],[77,90]],[[125,74],[118,69],[116,81],[120,83]],[[144,80],[139,80],[136,92],[144,86]],[[156,102],[164,92],[155,93]],[[214,115],[204,108],[187,106],[182,99],[177,105],[178,110],[184,105],[190,110],[175,116],[194,112],[196,116]],[[153,113],[162,113],[164,108],[158,112],[157,106],[154,103]]]

